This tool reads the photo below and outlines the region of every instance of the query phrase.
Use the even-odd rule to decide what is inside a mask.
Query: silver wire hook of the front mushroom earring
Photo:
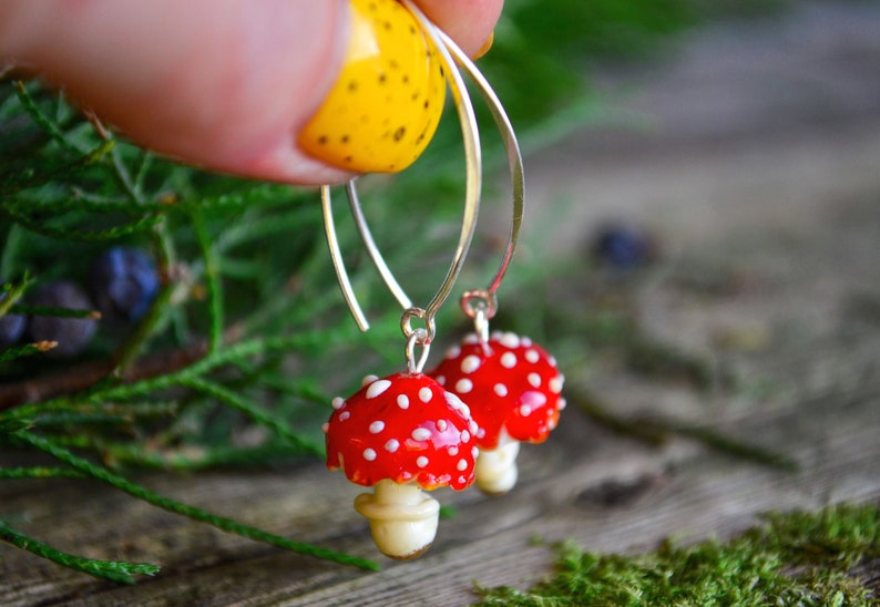
[[[364,245],[370,255],[370,259],[372,260],[374,265],[382,277],[382,280],[386,282],[393,297],[405,308],[405,312],[401,318],[401,329],[403,330],[403,333],[407,336],[407,338],[410,338],[413,333],[418,332],[420,336],[419,346],[428,346],[434,338],[434,317],[452,291],[456,280],[461,272],[461,268],[464,265],[464,259],[468,255],[471,240],[473,239],[473,233],[477,227],[477,216],[479,214],[480,207],[480,192],[482,188],[482,156],[480,152],[479,127],[477,125],[477,116],[473,113],[473,105],[471,104],[471,100],[461,73],[456,66],[456,62],[452,59],[450,51],[447,49],[447,44],[450,44],[454,52],[460,54],[463,53],[461,53],[461,51],[454,45],[454,43],[452,43],[451,40],[443,39],[442,32],[433,23],[431,23],[431,21],[424,17],[424,14],[422,14],[422,12],[409,0],[402,0],[402,3],[412,12],[413,17],[417,19],[417,21],[419,21],[419,24],[421,25],[424,33],[431,39],[434,47],[438,49],[441,65],[444,72],[448,74],[449,88],[452,92],[452,99],[456,103],[459,122],[461,123],[467,173],[464,212],[458,246],[456,248],[456,253],[453,254],[452,263],[447,276],[443,278],[443,281],[440,285],[440,289],[424,309],[412,307],[409,297],[407,297],[406,292],[391,274],[391,270],[388,268],[388,265],[382,259],[382,256],[376,246],[376,241],[372,238],[369,226],[367,225],[366,218],[364,217],[354,179],[348,182],[346,192],[348,194],[349,206],[351,207],[358,233],[360,234]],[[346,304],[348,305],[349,310],[351,310],[351,315],[355,317],[358,327],[361,331],[366,331],[369,329],[369,322],[367,321],[367,318],[357,301],[354,288],[351,287],[351,281],[348,278],[348,272],[346,271],[345,264],[342,261],[342,255],[339,249],[339,240],[336,235],[336,228],[332,219],[331,194],[330,187],[328,185],[321,186],[321,210],[324,213],[325,234],[327,236],[327,244],[330,249],[330,258],[334,264],[334,269],[336,270],[336,276],[339,280],[339,287],[342,290]],[[411,327],[411,321],[413,318],[418,318],[423,321],[424,331],[421,331],[420,329],[413,329]]]

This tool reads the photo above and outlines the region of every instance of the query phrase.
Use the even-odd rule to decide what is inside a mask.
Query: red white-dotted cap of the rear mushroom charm
[[[470,403],[480,449],[498,447],[502,430],[518,441],[541,443],[565,407],[556,361],[511,332],[492,333],[484,344],[469,335],[429,374]]]

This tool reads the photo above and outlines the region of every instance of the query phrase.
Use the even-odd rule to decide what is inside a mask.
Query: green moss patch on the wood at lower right
[[[478,605],[877,605],[864,572],[878,558],[880,508],[837,505],[769,514],[728,542],[667,541],[634,556],[565,543],[552,578],[524,591],[480,588]]]

